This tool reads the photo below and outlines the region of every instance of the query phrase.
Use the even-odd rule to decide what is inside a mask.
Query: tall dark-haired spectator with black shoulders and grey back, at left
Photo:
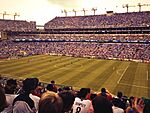
[[[29,96],[36,88],[34,78],[27,78],[23,81],[23,92],[13,101],[13,113],[35,113],[35,103]]]

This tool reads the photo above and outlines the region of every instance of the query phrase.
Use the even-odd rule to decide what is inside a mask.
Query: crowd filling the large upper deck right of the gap
[[[114,13],[110,15],[55,17],[44,25],[45,29],[63,28],[115,28],[150,25],[150,12]]]

